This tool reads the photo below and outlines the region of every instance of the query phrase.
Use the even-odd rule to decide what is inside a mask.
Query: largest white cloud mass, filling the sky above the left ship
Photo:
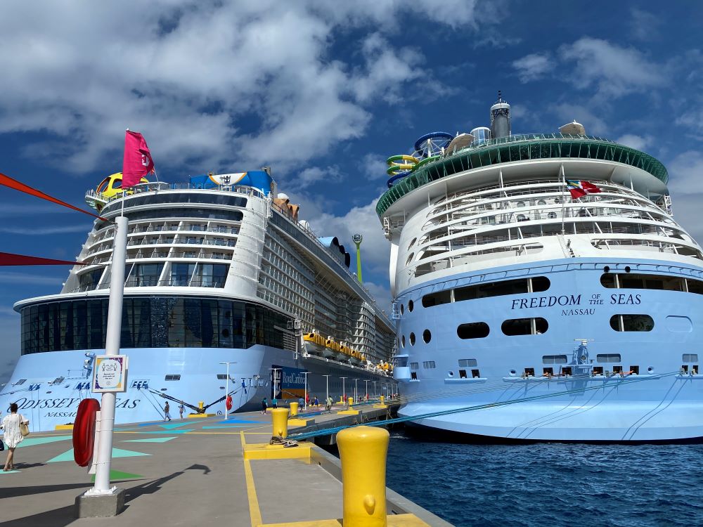
[[[118,165],[129,127],[157,167],[267,163],[285,174],[359,138],[371,103],[396,103],[404,84],[432,77],[419,51],[378,33],[403,13],[469,30],[503,16],[474,0],[8,4],[0,134],[48,132],[25,155],[79,173]],[[368,30],[354,43],[359,67],[329,56],[349,27]]]

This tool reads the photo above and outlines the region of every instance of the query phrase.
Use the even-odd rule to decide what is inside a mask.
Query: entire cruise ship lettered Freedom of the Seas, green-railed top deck
[[[489,115],[388,160],[400,414],[469,441],[699,440],[703,255],[666,168],[577,122],[512,134],[500,94]]]

